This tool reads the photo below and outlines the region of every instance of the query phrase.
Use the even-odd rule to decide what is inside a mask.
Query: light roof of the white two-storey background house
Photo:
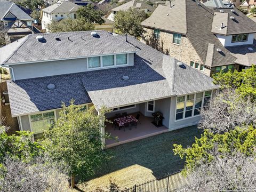
[[[43,9],[46,13],[70,13],[75,12],[80,6],[72,2],[58,2]]]

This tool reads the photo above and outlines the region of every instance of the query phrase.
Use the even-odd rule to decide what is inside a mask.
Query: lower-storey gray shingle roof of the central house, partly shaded
[[[23,79],[7,82],[12,116],[60,108],[71,98],[76,104],[93,102],[97,109],[118,107],[173,95],[217,89],[212,78],[197,69],[182,69],[177,60],[128,36],[113,36],[118,41],[137,46],[134,66],[86,71],[84,73]],[[122,76],[130,77],[124,81]],[[49,83],[55,90],[47,90]]]

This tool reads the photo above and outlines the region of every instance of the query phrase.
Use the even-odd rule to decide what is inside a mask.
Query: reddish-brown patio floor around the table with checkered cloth
[[[153,123],[151,123],[153,122],[153,117],[146,117],[143,116],[141,113],[139,114],[140,118],[139,122],[137,123],[137,128],[135,126],[126,127],[124,131],[124,129],[119,130],[118,127],[116,127],[115,129],[115,125],[113,125],[112,123],[106,123],[105,132],[111,134],[112,137],[118,137],[118,141],[112,139],[106,140],[107,148],[168,132],[167,127],[156,127]],[[129,115],[133,115],[135,117],[137,113]],[[108,118],[108,120],[113,122],[114,118]]]

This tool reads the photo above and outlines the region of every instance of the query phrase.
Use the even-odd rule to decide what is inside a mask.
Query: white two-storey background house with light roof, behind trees
[[[60,21],[61,19],[76,19],[76,11],[80,6],[72,2],[59,1],[42,10],[42,29],[48,33],[47,25],[52,21]]]

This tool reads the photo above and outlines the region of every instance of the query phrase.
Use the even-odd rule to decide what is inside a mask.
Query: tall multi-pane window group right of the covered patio
[[[212,91],[177,97],[175,120],[200,115],[202,107],[207,107],[211,97]]]

